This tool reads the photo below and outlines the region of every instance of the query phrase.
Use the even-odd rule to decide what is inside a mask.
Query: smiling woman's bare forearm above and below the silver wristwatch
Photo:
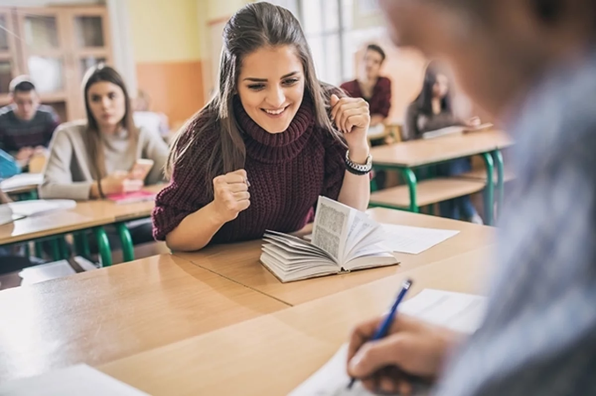
[[[356,163],[365,163],[368,157],[368,146],[361,150],[350,150],[350,159]],[[348,171],[343,177],[342,189],[337,200],[347,206],[365,211],[370,200],[370,176],[354,175]]]

